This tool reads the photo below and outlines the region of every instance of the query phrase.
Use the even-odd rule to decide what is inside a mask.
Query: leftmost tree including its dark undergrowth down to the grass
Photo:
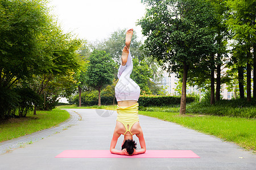
[[[23,87],[23,80],[32,78],[38,73],[40,63],[46,62],[39,54],[38,37],[51,19],[46,1],[3,0],[0,11],[0,89],[3,94],[0,112],[7,117],[14,116],[17,110],[19,115],[26,115],[27,108],[38,103],[38,97],[30,88]],[[2,103],[12,107],[3,107]]]

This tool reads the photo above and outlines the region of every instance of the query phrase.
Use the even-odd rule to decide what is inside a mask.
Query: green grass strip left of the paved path
[[[37,111],[37,115],[32,112],[23,118],[11,118],[0,123],[0,142],[22,137],[23,135],[34,133],[43,129],[51,128],[69,118],[69,113],[61,109],[52,111]]]

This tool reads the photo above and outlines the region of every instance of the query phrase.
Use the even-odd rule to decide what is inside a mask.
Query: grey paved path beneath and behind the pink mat
[[[72,121],[65,122],[54,133],[47,134],[45,130],[47,135],[35,133],[28,136],[39,137],[31,145],[1,154],[0,169],[256,169],[256,155],[252,152],[195,130],[146,116],[139,118],[147,150],[192,150],[201,158],[55,158],[64,150],[109,150],[112,139],[116,112],[67,110],[73,115]],[[2,142],[0,148],[3,144],[11,146],[12,142],[26,141],[26,137],[8,141],[9,144]],[[138,142],[136,137],[135,141]],[[122,138],[117,143],[120,149],[121,142]]]

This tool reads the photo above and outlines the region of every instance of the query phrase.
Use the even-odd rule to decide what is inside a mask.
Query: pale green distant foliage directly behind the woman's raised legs
[[[105,50],[115,61],[115,78],[121,62],[122,49],[125,46],[125,37],[127,29],[118,29],[114,31],[110,37],[104,42],[98,42],[94,46],[95,49]],[[159,91],[158,82],[161,78],[161,73],[158,71],[158,63],[150,56],[144,54],[141,40],[138,40],[136,30],[134,30],[133,38],[131,39],[131,56],[134,58],[134,68],[131,73],[132,79],[139,84],[143,91],[148,94],[157,94]],[[137,67],[138,66],[138,67]],[[145,68],[143,68],[145,66]],[[148,78],[147,78],[148,76]]]

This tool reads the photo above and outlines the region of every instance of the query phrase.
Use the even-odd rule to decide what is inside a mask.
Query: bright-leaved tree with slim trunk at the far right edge
[[[246,72],[247,72],[247,101],[251,101],[251,65],[254,65],[254,75],[256,73],[256,59],[251,54],[251,49],[256,46],[256,1],[242,1],[242,0],[229,0],[226,5],[230,9],[230,15],[226,24],[229,30],[233,33],[233,39],[236,40],[237,45],[243,46],[243,52],[246,53]],[[255,50],[254,54],[255,54]],[[253,82],[256,82],[254,76]],[[256,83],[254,83],[256,84]],[[255,86],[254,86],[255,87]],[[254,88],[255,89],[255,88]],[[256,90],[254,90],[256,95]]]

